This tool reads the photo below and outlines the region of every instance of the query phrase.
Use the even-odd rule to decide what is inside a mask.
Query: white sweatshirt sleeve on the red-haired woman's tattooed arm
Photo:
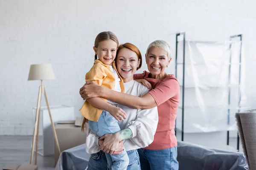
[[[148,88],[143,85],[140,96],[148,92]],[[132,131],[131,141],[138,147],[147,147],[154,140],[154,134],[157,130],[158,112],[157,107],[137,111],[137,118],[128,123],[127,127]]]

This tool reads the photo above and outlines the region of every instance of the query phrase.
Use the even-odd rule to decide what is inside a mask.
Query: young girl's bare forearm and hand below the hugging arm
[[[113,105],[108,104],[104,100],[102,100],[99,97],[90,98],[87,99],[87,102],[89,102],[91,105],[93,105],[95,108],[99,108],[105,111],[108,111],[117,121],[126,119],[126,113],[121,108],[117,108]]]

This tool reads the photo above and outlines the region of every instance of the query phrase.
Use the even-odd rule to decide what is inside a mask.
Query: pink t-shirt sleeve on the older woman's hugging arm
[[[173,96],[177,95],[179,90],[180,86],[176,79],[166,79],[148,93],[153,96],[157,106],[159,106],[167,100],[171,99]]]

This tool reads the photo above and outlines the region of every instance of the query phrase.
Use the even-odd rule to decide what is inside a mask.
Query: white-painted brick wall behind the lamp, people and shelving
[[[50,105],[74,105],[80,116],[79,88],[101,31],[113,31],[143,54],[156,39],[175,49],[177,31],[193,40],[243,34],[245,92],[253,107],[255,6],[253,0],[0,0],[0,135],[32,134],[40,82],[27,81],[31,64],[52,64],[56,79],[44,82]],[[144,69],[145,62],[139,72]]]

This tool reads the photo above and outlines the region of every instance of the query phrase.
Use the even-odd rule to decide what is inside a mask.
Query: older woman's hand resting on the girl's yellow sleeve
[[[92,97],[99,97],[101,94],[102,87],[98,85],[96,82],[88,81],[84,84],[83,87],[80,88],[81,98],[89,99]]]

